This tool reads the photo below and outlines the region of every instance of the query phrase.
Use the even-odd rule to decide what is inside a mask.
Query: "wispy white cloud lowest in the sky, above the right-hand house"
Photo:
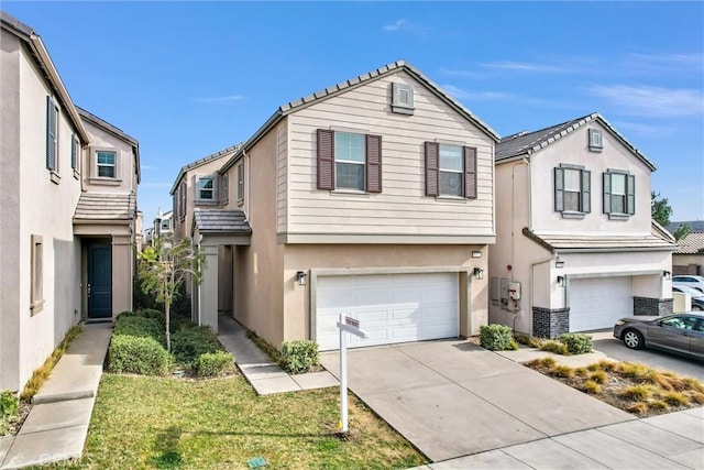
[[[627,113],[651,117],[704,114],[702,90],[630,85],[593,85],[586,91],[619,106]]]

